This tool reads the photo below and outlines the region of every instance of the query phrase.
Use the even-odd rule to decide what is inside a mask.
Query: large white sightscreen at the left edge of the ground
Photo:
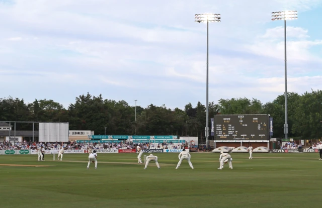
[[[68,142],[69,125],[39,123],[39,142]]]

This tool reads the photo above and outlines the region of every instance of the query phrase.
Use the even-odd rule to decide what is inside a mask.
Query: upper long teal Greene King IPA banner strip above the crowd
[[[178,139],[178,136],[88,135],[89,139]]]

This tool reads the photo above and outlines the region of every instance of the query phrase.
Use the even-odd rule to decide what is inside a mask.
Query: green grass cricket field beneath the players
[[[144,154],[143,154],[144,155]],[[145,155],[148,155],[147,153]],[[318,153],[232,153],[233,170],[218,170],[218,153],[191,153],[175,170],[178,154],[159,153],[158,170],[137,164],[137,154],[0,155],[0,207],[318,207],[322,161]],[[57,155],[56,155],[57,156]],[[143,157],[142,157],[143,159]]]

